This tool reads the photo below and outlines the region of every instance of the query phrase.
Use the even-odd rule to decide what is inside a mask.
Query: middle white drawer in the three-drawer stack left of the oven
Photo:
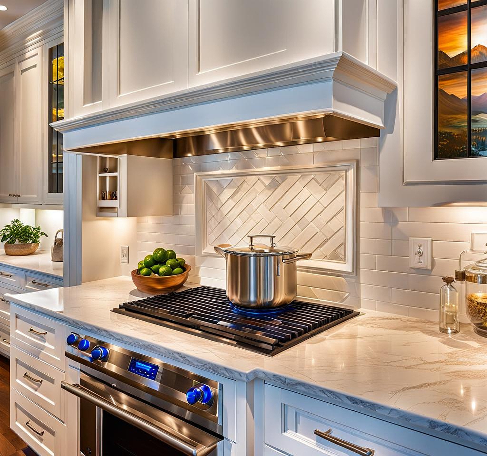
[[[10,385],[27,399],[64,421],[61,381],[64,372],[16,347],[10,349]]]

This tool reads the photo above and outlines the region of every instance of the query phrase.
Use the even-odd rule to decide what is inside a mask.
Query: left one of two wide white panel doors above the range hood
[[[187,0],[110,0],[109,105],[187,88]]]

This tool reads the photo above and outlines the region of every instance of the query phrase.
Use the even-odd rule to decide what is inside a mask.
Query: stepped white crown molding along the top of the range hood
[[[107,122],[120,121],[130,117],[154,114],[168,111],[169,109],[182,109],[202,103],[219,101],[222,99],[235,98],[242,95],[259,94],[265,91],[312,84],[320,81],[339,82],[342,87],[353,88],[351,92],[360,92],[365,96],[385,100],[387,93],[392,92],[396,83],[387,76],[377,72],[368,65],[357,60],[345,52],[336,52],[328,55],[321,55],[311,59],[303,60],[298,64],[283,65],[271,70],[263,70],[250,73],[244,77],[227,79],[216,84],[207,84],[197,88],[186,89],[171,93],[169,95],[151,98],[142,102],[131,103],[121,107],[104,109],[85,115],[64,119],[52,123],[56,130],[66,133],[79,128],[92,127]],[[354,97],[351,97],[352,99]],[[323,111],[337,112],[343,117],[353,118],[347,115],[342,107],[333,109],[323,107]],[[255,118],[259,118],[256,112]],[[367,118],[355,117],[359,122],[383,128],[381,121]],[[230,121],[230,119],[229,119]],[[163,131],[155,134],[165,133]],[[134,134],[133,136],[136,136]]]

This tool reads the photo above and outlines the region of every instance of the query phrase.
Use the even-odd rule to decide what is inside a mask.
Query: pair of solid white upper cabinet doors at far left
[[[0,72],[0,202],[42,203],[42,47]]]

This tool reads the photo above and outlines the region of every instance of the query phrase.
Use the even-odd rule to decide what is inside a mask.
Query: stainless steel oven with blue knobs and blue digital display
[[[80,382],[61,387],[80,399],[82,455],[218,455],[218,382],[92,337],[67,342]]]

